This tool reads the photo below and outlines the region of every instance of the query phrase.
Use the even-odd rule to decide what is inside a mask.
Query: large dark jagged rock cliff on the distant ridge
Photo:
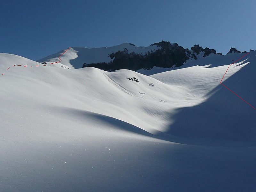
[[[130,44],[135,46],[134,44]],[[161,41],[159,43],[151,44],[156,45],[159,49],[147,53],[129,52],[126,48],[118,52],[113,52],[108,56],[112,59],[111,62],[100,63],[84,63],[83,67],[95,67],[106,71],[115,71],[118,69],[139,70],[141,68],[151,69],[154,66],[162,68],[179,67],[186,63],[188,59],[198,59],[198,54],[201,52],[203,57],[216,54],[214,49],[206,47],[203,49],[199,45],[194,45],[191,50],[184,49],[177,43],[170,43]]]

